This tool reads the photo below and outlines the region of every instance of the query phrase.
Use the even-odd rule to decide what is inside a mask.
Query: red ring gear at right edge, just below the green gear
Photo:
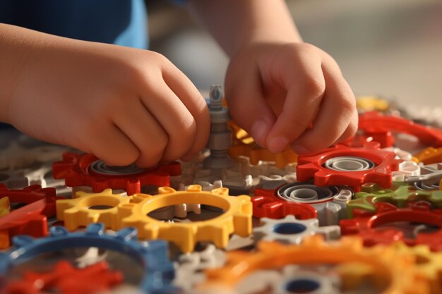
[[[433,251],[442,250],[442,230],[433,233],[417,232],[415,238],[406,238],[402,231],[395,228],[377,229],[386,223],[408,221],[412,223],[426,223],[442,227],[442,209],[431,209],[431,204],[419,201],[409,204],[407,208],[398,208],[393,204],[376,202],[376,212],[368,213],[362,210],[353,212],[354,219],[340,221],[342,235],[358,234],[364,239],[364,245],[391,244],[402,240],[407,245],[428,245]]]

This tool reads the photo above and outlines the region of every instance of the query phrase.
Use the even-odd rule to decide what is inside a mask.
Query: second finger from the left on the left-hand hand
[[[138,148],[140,155],[135,161],[136,165],[141,168],[155,166],[167,147],[167,133],[139,98],[127,99],[121,111],[113,119]]]

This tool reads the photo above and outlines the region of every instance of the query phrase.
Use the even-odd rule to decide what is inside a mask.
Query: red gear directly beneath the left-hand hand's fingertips
[[[93,154],[66,152],[63,161],[52,165],[54,178],[64,178],[69,187],[89,186],[92,192],[104,189],[124,189],[128,195],[141,192],[145,185],[169,185],[169,176],[179,176],[178,162],[158,166],[156,169],[138,169],[136,166],[107,166]]]

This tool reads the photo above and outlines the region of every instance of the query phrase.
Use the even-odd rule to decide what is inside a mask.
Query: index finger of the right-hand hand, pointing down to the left
[[[287,89],[287,97],[265,142],[272,152],[281,152],[304,133],[321,105],[325,80],[321,61],[315,54],[313,49],[296,51],[288,47],[285,54],[275,59],[270,74]]]

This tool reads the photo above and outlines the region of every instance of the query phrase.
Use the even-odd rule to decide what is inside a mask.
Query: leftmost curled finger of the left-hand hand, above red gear
[[[126,166],[138,159],[140,152],[133,142],[110,121],[97,125],[87,136],[90,152],[109,166]],[[88,150],[88,151],[89,151]]]

